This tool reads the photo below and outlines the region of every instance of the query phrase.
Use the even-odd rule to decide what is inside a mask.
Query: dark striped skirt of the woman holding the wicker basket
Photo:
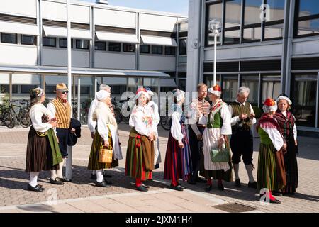
[[[108,132],[108,143],[112,143],[111,131]],[[91,145],[91,153],[89,157],[89,165],[88,170],[102,170],[102,169],[110,169],[118,166],[118,160],[114,160],[114,153],[112,157],[112,163],[101,163],[99,162],[99,151],[101,150],[104,144],[104,140],[101,135],[96,131],[94,135],[94,139]]]

